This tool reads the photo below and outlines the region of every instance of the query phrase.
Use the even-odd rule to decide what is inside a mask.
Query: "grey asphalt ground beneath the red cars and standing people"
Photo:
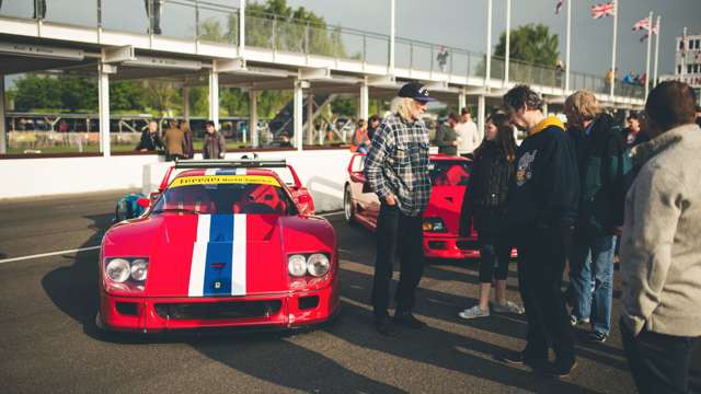
[[[524,316],[457,317],[476,303],[476,262],[433,262],[415,311],[428,327],[377,334],[368,302],[374,236],[341,215],[327,217],[341,253],[343,309],[333,324],[294,334],[104,337],[94,327],[96,250],[7,259],[99,245],[125,192],[0,201],[1,392],[634,392],[617,324],[618,278],[609,340],[581,340],[574,373],[545,379],[495,359],[524,347]],[[508,297],[520,302],[515,265]]]

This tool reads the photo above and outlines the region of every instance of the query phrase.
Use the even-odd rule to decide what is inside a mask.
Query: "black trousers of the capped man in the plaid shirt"
[[[411,312],[414,293],[424,275],[424,233],[422,216],[410,217],[398,206],[382,202],[377,220],[377,259],[372,281],[372,308],[376,317],[387,316],[394,256],[400,257],[400,277],[394,301],[397,313]]]

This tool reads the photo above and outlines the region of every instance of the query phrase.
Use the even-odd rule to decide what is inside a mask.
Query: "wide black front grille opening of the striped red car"
[[[280,300],[157,303],[156,313],[172,320],[267,317],[279,312]]]

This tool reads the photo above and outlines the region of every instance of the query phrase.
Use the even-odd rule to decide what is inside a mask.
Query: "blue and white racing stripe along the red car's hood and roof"
[[[207,170],[206,175],[243,175],[245,169]],[[193,245],[189,297],[245,296],[245,215],[199,215]]]

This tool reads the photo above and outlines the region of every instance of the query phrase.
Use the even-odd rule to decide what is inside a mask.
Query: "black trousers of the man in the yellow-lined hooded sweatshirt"
[[[528,321],[528,357],[547,358],[552,347],[558,362],[574,362],[574,333],[561,288],[571,242],[572,230],[559,228],[522,229],[518,239],[518,287]]]

